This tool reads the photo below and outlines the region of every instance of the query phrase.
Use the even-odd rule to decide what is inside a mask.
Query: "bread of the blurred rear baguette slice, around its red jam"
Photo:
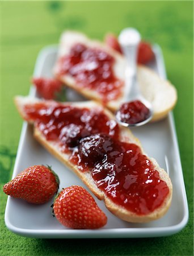
[[[102,102],[102,95],[100,95],[94,89],[79,86],[73,76],[68,74],[61,75],[60,73],[60,57],[68,55],[70,48],[77,43],[82,43],[91,48],[102,49],[109,55],[113,56],[115,58],[113,72],[121,81],[125,80],[126,60],[123,55],[114,51],[112,48],[103,43],[90,40],[79,32],[66,31],[64,34],[62,34],[58,51],[58,60],[54,67],[54,75],[57,77],[57,79],[64,82],[70,88],[81,93],[86,98]],[[174,86],[170,84],[169,81],[162,80],[157,73],[153,72],[147,67],[144,67],[143,65],[140,65],[137,68],[137,79],[142,94],[153,105],[154,115],[151,121],[157,121],[166,117],[168,112],[170,112],[170,110],[172,110],[176,104],[177,94]],[[112,112],[118,110],[124,94],[125,89],[123,85],[123,88],[121,88],[121,96],[116,100],[107,101],[105,103],[106,107]]]

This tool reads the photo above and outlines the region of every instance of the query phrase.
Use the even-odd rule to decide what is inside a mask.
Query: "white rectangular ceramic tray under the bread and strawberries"
[[[153,49],[155,60],[150,64],[150,68],[166,78],[162,52],[158,46],[154,46]],[[44,48],[37,58],[34,76],[51,77],[56,54],[57,47]],[[35,95],[35,89],[31,88],[30,94]],[[82,100],[82,97],[68,90],[68,100]],[[9,196],[5,212],[7,228],[21,236],[37,238],[159,237],[168,236],[183,229],[188,221],[188,204],[172,113],[162,121],[149,123],[132,130],[140,138],[147,154],[157,159],[159,165],[167,170],[172,180],[172,204],[163,218],[147,224],[128,223],[115,217],[104,207],[102,201],[96,199],[99,207],[107,214],[107,225],[99,230],[74,230],[65,228],[56,218],[53,218],[50,208],[52,201],[43,205],[32,205]],[[60,177],[60,189],[70,185],[85,187],[77,176],[33,139],[32,127],[24,122],[12,177],[34,164],[52,166]]]

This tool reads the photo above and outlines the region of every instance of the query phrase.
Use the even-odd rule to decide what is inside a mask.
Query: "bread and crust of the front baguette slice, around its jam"
[[[43,101],[43,100],[39,100],[37,98],[32,98],[32,97],[22,97],[22,96],[15,97],[15,104],[16,104],[16,107],[18,108],[20,115],[22,115],[23,119],[25,119],[29,123],[33,123],[35,122],[35,120],[30,119],[28,117],[27,113],[25,112],[25,106],[30,105],[33,107],[40,102],[44,102],[44,104],[48,106],[56,106],[57,104],[57,102],[55,101]],[[111,112],[109,112],[107,109],[104,109],[102,105],[94,101],[62,103],[62,104],[76,106],[77,108],[100,109],[107,115],[109,119],[115,119]],[[62,152],[59,146],[59,143],[57,141],[48,141],[44,137],[43,133],[41,133],[41,131],[37,128],[37,126],[35,126],[35,129],[34,129],[34,136],[37,139],[37,141],[39,141],[53,156],[56,156],[56,158],[58,158],[62,163],[68,166],[71,171],[74,171],[75,174],[77,174],[77,176],[83,181],[83,183],[87,185],[87,187],[94,193],[96,197],[98,197],[99,200],[104,200],[104,203],[106,204],[106,207],[108,208],[108,210],[110,210],[117,217],[129,222],[149,222],[149,221],[153,221],[158,218],[161,218],[170,207],[171,199],[172,199],[171,180],[166,174],[165,170],[163,170],[158,166],[158,163],[156,162],[155,159],[147,157],[147,159],[150,159],[151,162],[153,163],[154,169],[159,172],[160,179],[166,182],[169,188],[169,192],[168,192],[168,195],[166,196],[166,199],[163,201],[162,205],[159,208],[155,209],[153,212],[149,214],[138,215],[134,212],[130,212],[129,210],[126,210],[120,205],[113,203],[113,201],[109,199],[109,197],[107,197],[106,194],[97,187],[97,185],[94,182],[94,179],[91,176],[90,170],[85,172],[80,171],[78,169],[78,166],[76,166],[75,164],[69,161],[70,154]],[[119,139],[122,142],[137,144],[137,146],[141,148],[142,153],[145,154],[140,141],[138,141],[138,139],[134,137],[134,135],[131,133],[131,131],[128,128],[120,126]]]

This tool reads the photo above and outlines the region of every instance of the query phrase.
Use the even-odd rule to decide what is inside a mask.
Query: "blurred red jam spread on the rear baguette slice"
[[[114,63],[115,59],[102,49],[79,43],[61,57],[60,74],[73,76],[79,86],[95,90],[107,102],[121,96],[123,86],[123,81],[113,73]]]

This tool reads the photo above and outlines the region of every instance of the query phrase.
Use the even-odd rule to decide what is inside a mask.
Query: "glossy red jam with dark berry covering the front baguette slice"
[[[136,214],[153,212],[169,189],[140,147],[119,140],[119,126],[99,108],[54,104],[26,105],[28,118],[49,141],[58,141],[70,162],[91,171],[96,185],[121,207]]]

